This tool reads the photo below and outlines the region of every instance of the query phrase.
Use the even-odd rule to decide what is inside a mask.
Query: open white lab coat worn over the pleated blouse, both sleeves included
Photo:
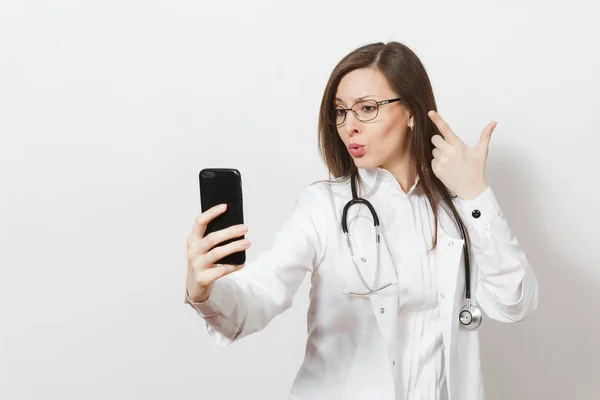
[[[394,201],[399,199],[393,193],[400,186],[380,168],[359,173],[365,183],[361,196],[371,201],[381,220],[382,236],[392,241],[389,228],[395,222]],[[386,336],[393,329],[385,326],[389,320],[381,318],[380,309],[398,310],[396,286],[368,297],[343,294],[344,289],[364,290],[341,228],[342,209],[351,197],[349,181],[307,187],[273,246],[242,270],[217,280],[206,302],[192,304],[206,321],[210,338],[225,346],[260,331],[289,308],[310,272],[306,354],[290,399],[395,398],[386,348],[393,339]],[[454,203],[471,237],[474,303],[498,321],[524,319],[537,307],[537,281],[491,187],[474,200],[455,198]],[[474,210],[480,211],[478,218]],[[372,224],[365,207],[350,208],[349,226],[365,218]],[[441,208],[438,218],[434,256],[449,396],[452,400],[483,399],[479,333],[459,327],[458,321],[465,305],[464,240]],[[368,264],[374,260],[374,230],[352,232],[356,257],[369,259],[365,278],[372,282],[374,274]],[[381,282],[397,277],[393,257],[380,251]]]

